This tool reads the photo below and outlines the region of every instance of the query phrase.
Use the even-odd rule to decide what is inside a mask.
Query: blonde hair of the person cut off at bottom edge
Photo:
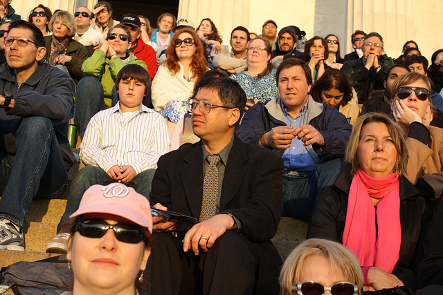
[[[311,238],[293,249],[284,261],[279,278],[282,295],[292,294],[292,285],[300,283],[299,278],[302,275],[303,266],[309,258],[314,256],[327,258],[330,265],[329,272],[341,270],[346,280],[359,287],[359,294],[361,294],[364,278],[359,260],[357,260],[355,254],[339,242]]]

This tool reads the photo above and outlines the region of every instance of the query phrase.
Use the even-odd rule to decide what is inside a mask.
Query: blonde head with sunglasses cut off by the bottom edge
[[[360,295],[363,273],[355,254],[338,242],[311,238],[293,249],[280,272],[282,295]]]

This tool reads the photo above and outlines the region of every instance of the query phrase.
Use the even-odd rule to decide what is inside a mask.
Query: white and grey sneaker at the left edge
[[[0,219],[0,250],[25,251],[23,231],[6,218]]]

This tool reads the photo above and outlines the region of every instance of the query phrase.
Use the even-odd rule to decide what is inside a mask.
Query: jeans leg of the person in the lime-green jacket
[[[75,125],[83,138],[84,131],[93,115],[105,110],[102,83],[93,76],[84,76],[77,84],[75,93]]]

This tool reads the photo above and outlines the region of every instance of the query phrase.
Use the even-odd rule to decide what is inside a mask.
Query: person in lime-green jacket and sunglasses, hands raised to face
[[[121,68],[138,64],[147,70],[144,61],[128,52],[131,41],[129,29],[119,23],[109,29],[106,40],[100,40],[98,49],[84,61],[82,72],[85,77],[78,83],[75,93],[75,119],[81,137],[93,115],[118,101],[112,100],[112,91]]]

